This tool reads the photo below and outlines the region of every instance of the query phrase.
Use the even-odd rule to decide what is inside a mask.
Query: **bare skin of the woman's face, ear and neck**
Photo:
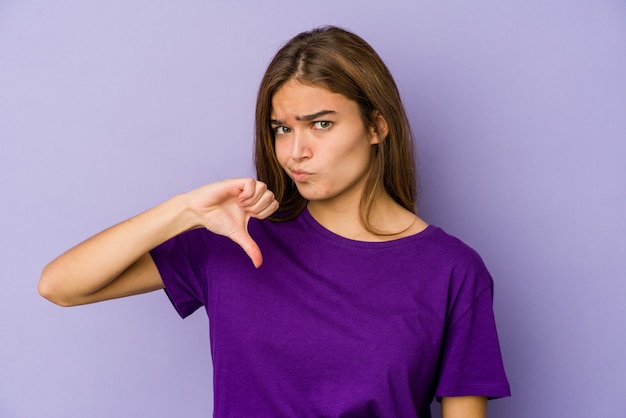
[[[376,126],[367,127],[356,102],[294,80],[272,99],[276,157],[309,200],[309,212],[332,232],[361,241],[397,239],[427,226],[386,193],[377,196],[370,214],[386,235],[367,231],[358,218],[373,146],[387,136],[387,122],[375,116]]]

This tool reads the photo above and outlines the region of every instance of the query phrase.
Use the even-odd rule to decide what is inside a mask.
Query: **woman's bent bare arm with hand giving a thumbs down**
[[[259,266],[261,252],[248,235],[250,217],[278,208],[273,193],[254,179],[232,179],[178,195],[78,244],[48,264],[39,293],[61,306],[81,305],[163,288],[149,251],[189,229],[205,227],[237,242]]]

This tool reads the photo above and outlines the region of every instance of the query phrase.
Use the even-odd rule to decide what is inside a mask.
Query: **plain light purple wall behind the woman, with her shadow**
[[[387,61],[422,215],[495,277],[514,396],[491,416],[624,416],[623,0],[0,0],[1,417],[209,415],[203,313],[180,320],[163,292],[61,309],[39,273],[175,193],[250,175],[266,64],[326,23]]]

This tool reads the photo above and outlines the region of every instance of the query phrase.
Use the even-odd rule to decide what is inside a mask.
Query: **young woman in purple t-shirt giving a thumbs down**
[[[258,179],[181,194],[70,249],[40,293],[165,288],[209,316],[216,417],[484,417],[509,395],[480,257],[415,215],[409,124],[374,50],[335,27],[270,63]],[[250,262],[252,261],[252,262]]]

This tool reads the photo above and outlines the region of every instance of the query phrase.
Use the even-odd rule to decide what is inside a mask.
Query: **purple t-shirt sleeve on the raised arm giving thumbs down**
[[[182,318],[205,305],[209,245],[206,232],[202,229],[185,232],[150,251],[165,292]]]

